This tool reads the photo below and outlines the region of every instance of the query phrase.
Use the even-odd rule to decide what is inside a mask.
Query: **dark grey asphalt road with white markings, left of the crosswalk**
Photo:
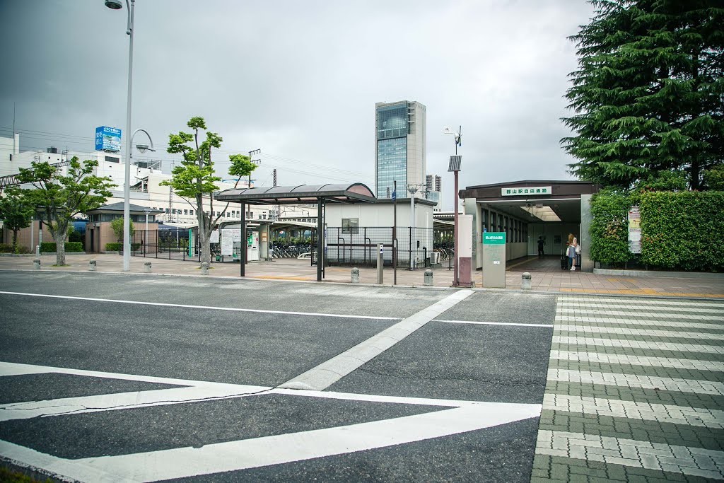
[[[0,457],[80,481],[527,482],[555,296],[453,294],[0,272]],[[331,385],[279,388],[408,317]]]

